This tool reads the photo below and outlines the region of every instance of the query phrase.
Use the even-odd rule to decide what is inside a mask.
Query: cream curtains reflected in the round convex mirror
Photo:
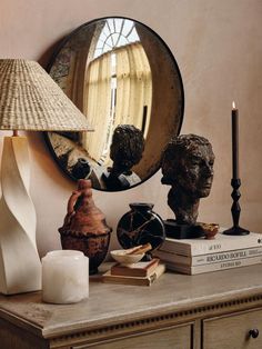
[[[88,67],[84,110],[95,131],[84,133],[83,147],[98,163],[109,166],[114,128],[133,124],[147,138],[151,114],[152,76],[140,42],[117,48]]]

